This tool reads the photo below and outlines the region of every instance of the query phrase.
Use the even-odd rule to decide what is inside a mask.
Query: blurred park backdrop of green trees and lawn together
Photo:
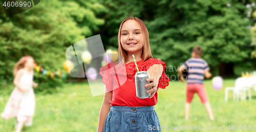
[[[180,66],[190,58],[192,47],[200,45],[212,74],[224,78],[223,88],[234,86],[241,72],[256,70],[254,2],[45,0],[10,17],[1,5],[0,111],[14,88],[15,63],[30,55],[39,66],[51,72],[60,70],[66,78],[35,72],[34,81],[39,83],[35,89],[36,114],[33,126],[24,131],[96,131],[103,95],[92,97],[86,79],[69,76],[63,68],[65,51],[75,42],[97,34],[105,50],[117,50],[120,23],[129,16],[144,21],[153,57],[166,62],[166,74],[173,75],[172,80],[177,71],[168,66]],[[170,81],[166,89],[159,89],[155,105],[161,125],[217,126],[217,130],[225,125],[226,131],[228,125],[256,125],[254,91],[250,101],[225,102],[224,89],[213,89],[211,80],[205,81],[205,87],[215,121],[208,119],[198,96],[191,105],[190,120],[185,121],[186,84]],[[14,131],[14,123],[0,119],[1,131]]]

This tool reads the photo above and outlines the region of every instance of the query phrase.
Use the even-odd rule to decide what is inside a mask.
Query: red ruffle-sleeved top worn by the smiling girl
[[[158,88],[165,89],[169,85],[170,78],[165,74],[165,62],[150,58],[147,61],[137,61],[139,71],[147,71],[154,64],[162,64],[163,72],[159,78]],[[106,89],[112,92],[111,106],[144,107],[153,106],[157,103],[157,92],[152,98],[138,98],[136,96],[135,74],[137,72],[134,62],[125,64],[125,68],[114,69],[116,63],[111,62],[100,68],[102,82]],[[124,67],[124,66],[123,66]]]

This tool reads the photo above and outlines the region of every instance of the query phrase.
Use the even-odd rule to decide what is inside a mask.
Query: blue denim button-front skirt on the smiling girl
[[[161,128],[154,106],[111,106],[110,112],[108,116],[106,116],[103,131],[161,131],[161,129],[157,129],[157,127]]]

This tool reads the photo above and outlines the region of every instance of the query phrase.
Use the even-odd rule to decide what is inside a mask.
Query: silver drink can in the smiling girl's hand
[[[146,81],[148,77],[150,77],[150,74],[147,71],[140,71],[135,74],[136,96],[138,98],[148,98],[151,96],[151,93],[146,93],[151,87],[145,88],[145,85],[150,83]]]

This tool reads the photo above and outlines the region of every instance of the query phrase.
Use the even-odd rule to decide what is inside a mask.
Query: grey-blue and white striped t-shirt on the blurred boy
[[[188,84],[203,84],[204,71],[209,70],[206,61],[201,58],[191,58],[183,66],[187,69]]]

